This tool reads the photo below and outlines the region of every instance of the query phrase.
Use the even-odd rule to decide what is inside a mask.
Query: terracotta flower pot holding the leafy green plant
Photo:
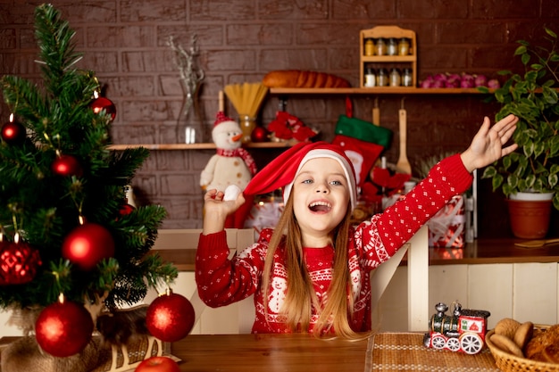
[[[551,218],[551,200],[507,200],[513,235],[521,239],[545,237]]]

